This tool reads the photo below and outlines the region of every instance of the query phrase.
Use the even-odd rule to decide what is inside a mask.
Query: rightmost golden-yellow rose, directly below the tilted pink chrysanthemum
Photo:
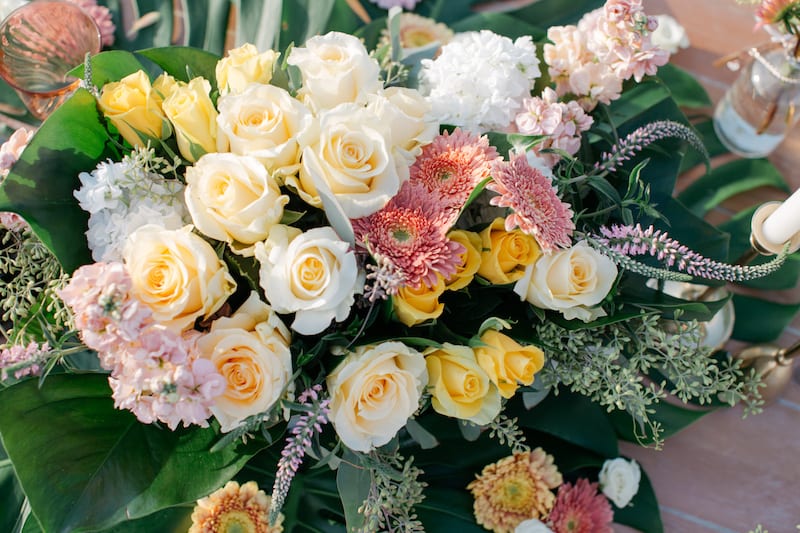
[[[505,221],[496,218],[481,232],[481,265],[478,274],[494,285],[513,283],[525,275],[525,268],[541,255],[539,244],[519,229],[506,231]]]

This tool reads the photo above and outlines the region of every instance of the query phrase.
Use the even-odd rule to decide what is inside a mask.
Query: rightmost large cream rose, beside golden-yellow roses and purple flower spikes
[[[590,322],[605,316],[593,306],[603,301],[616,278],[614,262],[581,241],[529,265],[514,292],[536,307],[559,311],[568,320]]]

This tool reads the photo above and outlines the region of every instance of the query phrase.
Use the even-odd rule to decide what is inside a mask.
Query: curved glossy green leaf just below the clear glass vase
[[[728,198],[758,187],[776,187],[789,192],[786,180],[768,160],[735,159],[698,178],[678,195],[678,199],[692,213],[702,217]]]

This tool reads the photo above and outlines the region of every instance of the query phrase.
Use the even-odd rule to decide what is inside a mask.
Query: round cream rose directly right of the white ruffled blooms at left
[[[187,168],[185,197],[197,229],[244,256],[253,255],[289,202],[261,163],[229,153],[206,154]]]

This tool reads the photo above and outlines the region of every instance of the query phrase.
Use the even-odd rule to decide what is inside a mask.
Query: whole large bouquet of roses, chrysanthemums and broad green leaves
[[[272,49],[87,59],[4,145],[0,525],[661,530],[618,439],[759,402],[731,295],[666,284],[787,254],[673,197],[721,149],[655,19],[284,4]]]

